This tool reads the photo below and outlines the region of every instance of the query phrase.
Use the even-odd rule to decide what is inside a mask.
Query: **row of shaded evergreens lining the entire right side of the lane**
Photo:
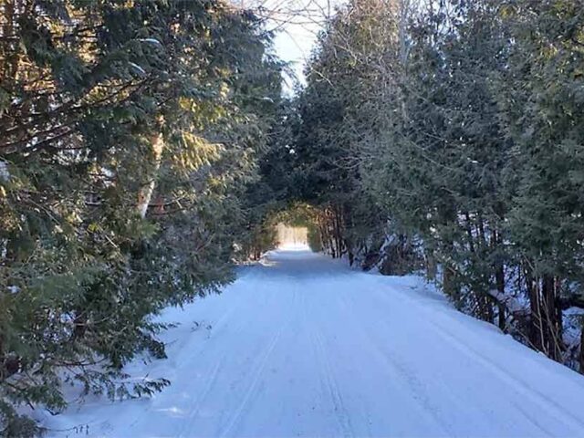
[[[583,6],[349,2],[294,145],[302,195],[340,212],[342,254],[423,264],[459,308],[579,370]]]

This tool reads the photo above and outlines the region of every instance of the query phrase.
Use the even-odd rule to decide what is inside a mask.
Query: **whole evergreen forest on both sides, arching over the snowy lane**
[[[584,372],[584,5],[352,0],[283,97],[224,0],[0,3],[0,435],[151,394],[152,317],[304,224]]]

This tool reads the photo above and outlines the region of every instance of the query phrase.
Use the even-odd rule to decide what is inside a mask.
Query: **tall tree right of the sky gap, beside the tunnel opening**
[[[318,207],[323,249],[351,264],[379,251],[388,231],[381,209],[362,190],[358,156],[361,134],[380,121],[366,96],[379,91],[381,72],[363,60],[389,53],[395,28],[390,11],[377,6],[352,2],[328,23],[297,99],[299,123],[291,127],[289,195]]]

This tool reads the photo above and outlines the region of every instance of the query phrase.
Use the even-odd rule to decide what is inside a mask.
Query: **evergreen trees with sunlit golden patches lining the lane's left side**
[[[220,0],[0,5],[0,434],[162,357],[161,308],[231,278],[281,64]]]

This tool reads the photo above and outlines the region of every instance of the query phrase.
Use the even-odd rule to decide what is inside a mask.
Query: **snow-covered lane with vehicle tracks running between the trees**
[[[279,250],[162,320],[169,359],[127,371],[172,386],[46,416],[49,436],[584,436],[579,374],[418,277]]]

